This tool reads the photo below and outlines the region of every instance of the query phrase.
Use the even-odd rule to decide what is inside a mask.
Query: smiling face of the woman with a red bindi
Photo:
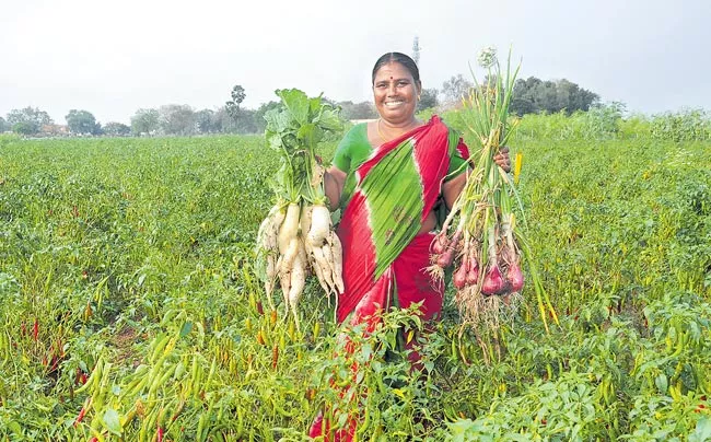
[[[375,72],[373,97],[375,108],[387,123],[407,124],[415,117],[420,85],[412,74],[397,61],[383,65]]]

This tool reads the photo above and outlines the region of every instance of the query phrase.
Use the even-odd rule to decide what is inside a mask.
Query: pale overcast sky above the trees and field
[[[416,35],[424,88],[513,45],[523,78],[631,112],[711,111],[711,0],[22,0],[0,14],[0,116],[128,124],[138,108],[214,109],[235,84],[250,108],[280,88],[371,100],[377,57],[411,54]]]

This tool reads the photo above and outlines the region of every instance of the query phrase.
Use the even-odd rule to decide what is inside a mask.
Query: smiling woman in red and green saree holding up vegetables
[[[444,284],[427,272],[436,226],[435,209],[452,207],[466,183],[461,167],[468,151],[459,136],[434,116],[415,117],[422,84],[415,61],[383,55],[373,68],[373,98],[380,118],[354,126],[338,146],[325,175],[331,210],[342,210],[337,233],[343,247],[345,293],[338,322],[366,324],[393,305],[422,302],[423,319],[442,310]],[[510,170],[508,149],[494,160]],[[417,358],[417,356],[415,356]],[[318,418],[310,432],[322,434]],[[349,430],[337,440],[350,440]]]

